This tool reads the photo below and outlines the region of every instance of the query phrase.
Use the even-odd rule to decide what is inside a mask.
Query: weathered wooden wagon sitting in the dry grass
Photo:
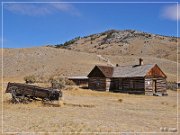
[[[55,101],[62,97],[62,92],[57,89],[10,82],[5,92],[11,93],[12,101],[15,103],[26,102],[36,98],[42,99],[43,101]]]

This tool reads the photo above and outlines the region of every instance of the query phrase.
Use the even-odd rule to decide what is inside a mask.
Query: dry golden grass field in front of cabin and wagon
[[[3,94],[3,131],[30,134],[167,133],[177,126],[175,91],[169,90],[168,96],[156,97],[70,87],[63,90],[63,94],[60,107],[43,105],[41,101],[12,104],[10,95]],[[167,131],[163,132],[162,128]]]

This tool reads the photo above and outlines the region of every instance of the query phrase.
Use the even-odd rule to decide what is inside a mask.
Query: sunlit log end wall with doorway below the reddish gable
[[[166,94],[166,78],[145,78],[145,95]]]

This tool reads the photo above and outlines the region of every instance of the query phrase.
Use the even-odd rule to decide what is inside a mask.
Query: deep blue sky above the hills
[[[176,36],[177,7],[176,3],[3,3],[3,47],[59,44],[108,29]]]

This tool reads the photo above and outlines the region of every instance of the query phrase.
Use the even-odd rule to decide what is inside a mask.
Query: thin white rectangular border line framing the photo
[[[178,25],[178,5],[179,5],[179,2],[177,1],[177,2],[155,2],[155,1],[151,1],[151,2],[140,2],[140,1],[137,1],[137,2],[1,2],[1,21],[2,21],[2,24],[1,24],[1,27],[2,27],[2,31],[1,31],[1,48],[2,48],[2,51],[1,51],[1,53],[2,53],[2,70],[1,70],[1,80],[2,80],[2,89],[1,89],[1,91],[2,91],[2,106],[1,106],[1,110],[2,110],[2,121],[1,121],[1,124],[2,124],[2,126],[1,126],[1,128],[2,128],[2,134],[4,134],[4,133],[8,133],[8,134],[14,134],[14,133],[33,133],[33,134],[36,134],[36,133],[39,133],[39,134],[41,134],[41,133],[46,133],[46,132],[4,132],[3,131],[3,124],[4,124],[4,122],[3,122],[3,98],[4,98],[4,96],[3,96],[3,94],[4,94],[4,92],[3,92],[3,90],[4,90],[4,80],[3,80],[3,47],[4,47],[4,45],[3,45],[3,42],[4,42],[4,35],[3,35],[3,33],[4,33],[4,29],[3,29],[3,26],[4,26],[4,24],[3,24],[3,18],[4,18],[4,13],[3,13],[3,7],[4,7],[4,4],[15,4],[15,3],[18,3],[18,4],[24,4],[24,3],[26,3],[26,4],[35,4],[35,3],[39,3],[39,4],[43,4],[43,3],[61,3],[61,4],[176,4],[177,5],[177,22],[176,22],[176,28],[177,28],[177,31],[176,31],[176,36],[177,36],[177,79],[176,79],[176,81],[177,82],[179,82],[179,78],[178,78],[178,75],[179,75],[179,73],[178,73],[178,67],[179,67],[179,65],[178,65],[178,53],[179,53],[179,48],[178,48],[178,36],[179,36],[179,31],[178,31],[178,28],[179,28],[179,25]],[[178,85],[178,84],[177,84]],[[178,87],[177,87],[178,88]],[[178,99],[178,90],[177,90],[177,127],[176,127],[176,129],[177,129],[177,133],[179,133],[179,130],[178,130],[178,119],[179,119],[179,117],[178,117],[178,101],[179,101],[179,99]],[[108,134],[108,133],[112,133],[112,134],[117,134],[117,133],[124,133],[124,134],[130,134],[130,133],[137,133],[137,134],[139,134],[139,133],[151,133],[151,134],[157,134],[157,133],[163,133],[163,134],[169,134],[169,133],[172,133],[172,132],[48,132],[48,133],[65,133],[65,134],[67,134],[67,133],[80,133],[80,134],[90,134],[90,133],[101,133],[101,134]]]

